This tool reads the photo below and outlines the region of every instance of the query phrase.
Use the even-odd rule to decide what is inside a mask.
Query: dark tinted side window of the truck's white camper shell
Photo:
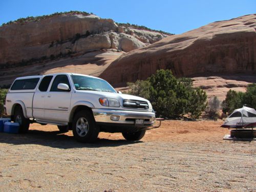
[[[39,78],[18,79],[13,83],[11,90],[33,90],[38,81]]]

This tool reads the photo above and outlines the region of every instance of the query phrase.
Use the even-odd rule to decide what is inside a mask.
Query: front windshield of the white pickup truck
[[[91,90],[91,91],[105,91],[116,93],[114,88],[103,79],[71,75],[76,90]]]

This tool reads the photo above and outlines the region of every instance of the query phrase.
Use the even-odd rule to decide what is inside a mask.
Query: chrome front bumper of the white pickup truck
[[[111,109],[92,109],[94,119],[98,123],[119,123],[135,125],[135,119],[144,119],[143,126],[151,126],[155,122],[155,113],[140,111],[124,111]],[[111,116],[119,116],[119,120],[111,120]],[[136,126],[136,125],[135,125]]]

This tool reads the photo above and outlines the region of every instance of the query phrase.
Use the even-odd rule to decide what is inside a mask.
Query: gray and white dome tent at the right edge
[[[234,110],[221,126],[227,128],[256,127],[256,110],[247,106]]]

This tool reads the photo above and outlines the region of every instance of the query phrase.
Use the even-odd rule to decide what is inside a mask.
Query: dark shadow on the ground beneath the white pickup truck
[[[98,138],[94,143],[79,143],[73,136],[65,135],[59,131],[38,131],[29,130],[26,134],[7,134],[0,133],[0,143],[7,143],[13,145],[23,144],[38,144],[50,146],[53,148],[99,148],[99,147],[115,147],[128,144],[136,144],[142,141],[126,141],[126,140],[111,140]]]

